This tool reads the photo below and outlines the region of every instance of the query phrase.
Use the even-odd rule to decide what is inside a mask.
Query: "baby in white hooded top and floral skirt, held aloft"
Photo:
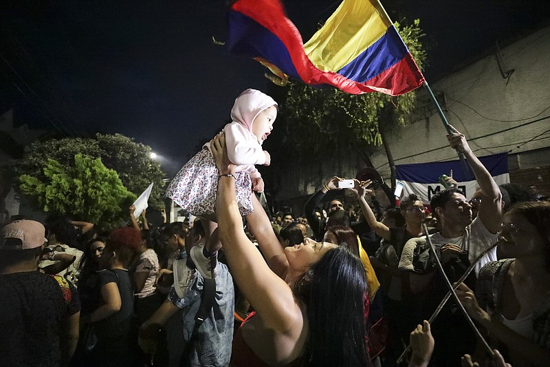
[[[236,200],[241,216],[254,211],[253,191],[263,192],[263,179],[254,165],[270,165],[271,157],[262,144],[271,134],[277,117],[277,103],[259,90],[248,89],[239,95],[231,109],[232,123],[223,127],[228,158],[237,165],[235,174]],[[221,247],[217,235],[216,196],[219,172],[210,151],[210,143],[195,154],[168,185],[166,196],[182,209],[201,218],[206,232],[206,244],[190,251],[199,272],[208,277],[208,258]],[[211,275],[210,275],[211,276]]]

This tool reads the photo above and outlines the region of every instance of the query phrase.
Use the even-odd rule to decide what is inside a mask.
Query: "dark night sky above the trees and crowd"
[[[305,41],[339,3],[285,1]],[[382,3],[394,21],[421,19],[432,83],[550,18],[542,0]],[[150,145],[168,174],[223,126],[242,90],[274,87],[261,65],[212,43],[225,39],[225,1],[2,1],[0,9],[0,114],[13,108],[16,126],[69,136],[120,132]]]

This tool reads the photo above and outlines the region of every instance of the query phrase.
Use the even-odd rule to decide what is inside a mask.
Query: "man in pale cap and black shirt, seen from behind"
[[[80,302],[65,278],[39,273],[44,226],[6,224],[0,235],[0,364],[66,366],[78,342]]]

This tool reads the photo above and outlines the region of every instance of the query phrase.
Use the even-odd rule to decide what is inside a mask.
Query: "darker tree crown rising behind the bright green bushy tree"
[[[166,176],[158,162],[150,156],[151,147],[135,143],[121,134],[97,134],[95,138],[61,138],[38,141],[25,147],[18,171],[20,175],[46,179],[44,167],[50,159],[64,167],[75,164],[76,154],[100,158],[105,167],[118,173],[126,189],[140,195],[153,182],[149,205],[162,208]]]

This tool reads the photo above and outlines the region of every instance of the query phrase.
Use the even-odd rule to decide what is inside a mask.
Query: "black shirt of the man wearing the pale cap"
[[[59,366],[59,333],[80,311],[74,286],[63,277],[30,271],[0,275],[0,365]]]

